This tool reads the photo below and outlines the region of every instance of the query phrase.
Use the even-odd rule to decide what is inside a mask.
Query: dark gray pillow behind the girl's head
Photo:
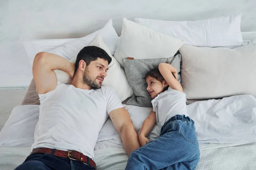
[[[149,95],[145,75],[153,68],[157,68],[162,62],[168,62],[177,69],[178,81],[180,82],[181,54],[169,58],[160,59],[122,59],[128,82],[134,90],[134,94],[126,102],[126,105],[135,105],[151,108],[151,96]]]

